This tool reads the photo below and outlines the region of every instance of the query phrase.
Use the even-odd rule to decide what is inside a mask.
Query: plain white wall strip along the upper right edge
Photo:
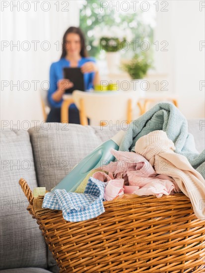
[[[174,1],[176,18],[175,82],[180,108],[187,118],[205,117],[205,87],[200,90],[200,80],[205,80],[205,48],[200,51],[200,41],[205,41],[205,8],[200,11],[200,1]],[[182,17],[183,14],[183,17]]]

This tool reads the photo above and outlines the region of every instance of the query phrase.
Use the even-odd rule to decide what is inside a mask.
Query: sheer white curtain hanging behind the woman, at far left
[[[1,2],[1,127],[24,129],[24,121],[44,120],[49,68],[66,29],[79,25],[79,9],[76,1]]]

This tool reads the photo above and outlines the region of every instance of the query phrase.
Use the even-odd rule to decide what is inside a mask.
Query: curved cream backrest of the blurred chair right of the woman
[[[124,121],[129,119],[129,112],[137,107],[137,91],[108,91],[72,93],[74,103],[84,115],[94,121]],[[80,103],[83,101],[83,105]],[[130,105],[130,106],[129,106]],[[129,109],[131,107],[131,109]]]

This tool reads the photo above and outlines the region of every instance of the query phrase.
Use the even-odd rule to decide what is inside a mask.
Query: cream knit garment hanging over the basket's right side
[[[174,152],[175,146],[164,131],[141,136],[135,151],[144,156],[156,173],[171,176],[180,190],[190,198],[195,215],[205,219],[205,180],[184,155]]]

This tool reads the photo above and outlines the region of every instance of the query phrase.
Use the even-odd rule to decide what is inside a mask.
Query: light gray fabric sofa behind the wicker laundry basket
[[[201,119],[202,121],[203,119]],[[204,149],[205,127],[189,121],[198,151]],[[0,180],[0,271],[2,273],[59,272],[36,220],[26,210],[28,201],[18,181],[31,190],[51,190],[80,159],[114,136],[117,129],[75,124],[47,124],[24,130],[2,130]]]

